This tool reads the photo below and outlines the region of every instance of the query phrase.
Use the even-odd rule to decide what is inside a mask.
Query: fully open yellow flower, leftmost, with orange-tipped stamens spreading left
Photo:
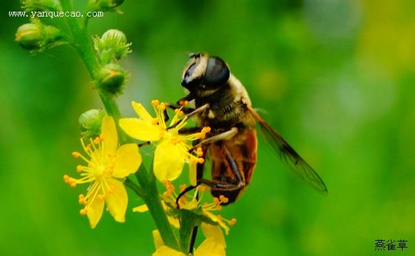
[[[91,228],[100,221],[107,203],[109,213],[116,221],[124,222],[127,210],[127,191],[122,179],[135,173],[142,159],[136,144],[124,144],[118,147],[116,124],[112,117],[102,119],[100,137],[90,139],[91,144],[85,146],[81,139],[86,157],[80,152],[73,152],[73,157],[81,157],[87,166],[77,166],[81,178],[75,179],[64,175],[64,180],[71,187],[77,184],[91,184],[86,196],[80,195],[79,202],[84,205],[81,215],[87,215]]]

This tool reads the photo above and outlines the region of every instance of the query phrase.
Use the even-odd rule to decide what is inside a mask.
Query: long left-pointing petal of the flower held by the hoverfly
[[[151,124],[138,118],[120,119],[120,127],[127,135],[140,141],[158,141],[160,139],[160,130],[155,124]]]

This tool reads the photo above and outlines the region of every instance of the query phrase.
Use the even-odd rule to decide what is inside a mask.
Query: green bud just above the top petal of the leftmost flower
[[[105,112],[98,109],[91,109],[80,115],[78,121],[84,139],[93,139],[101,134],[101,122],[104,115]]]

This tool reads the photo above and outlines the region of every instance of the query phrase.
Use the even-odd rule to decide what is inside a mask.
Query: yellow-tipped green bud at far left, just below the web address
[[[38,19],[33,19],[32,23],[20,26],[16,32],[17,43],[21,47],[33,51],[42,51],[66,43],[63,38],[64,35],[58,28],[46,26]]]

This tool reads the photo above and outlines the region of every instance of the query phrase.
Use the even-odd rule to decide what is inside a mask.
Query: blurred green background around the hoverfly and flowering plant
[[[77,1],[83,10],[84,1]],[[33,56],[15,43],[28,19],[1,3],[0,255],[149,255],[148,214],[95,230],[79,215],[77,118],[100,107],[69,46]],[[126,1],[91,20],[122,30],[133,52],[118,102],[175,101],[187,52],[225,59],[256,108],[317,170],[324,197],[259,140],[245,195],[222,215],[238,222],[228,255],[415,255],[415,3],[403,1]],[[47,23],[55,23],[57,19]],[[131,194],[129,208],[142,204]],[[375,252],[375,239],[406,239]]]

